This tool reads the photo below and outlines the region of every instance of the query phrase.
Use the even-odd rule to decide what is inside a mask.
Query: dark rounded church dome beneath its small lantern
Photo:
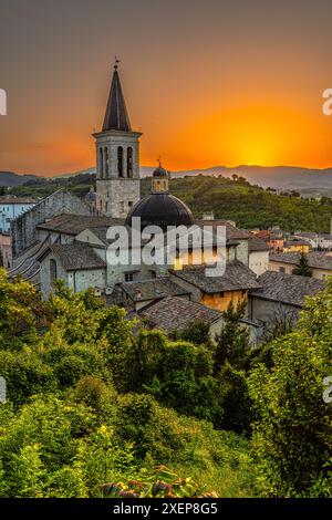
[[[147,195],[129,211],[126,225],[132,225],[133,217],[141,217],[142,229],[159,226],[164,231],[167,226],[191,226],[194,217],[190,209],[177,197],[167,193]]]

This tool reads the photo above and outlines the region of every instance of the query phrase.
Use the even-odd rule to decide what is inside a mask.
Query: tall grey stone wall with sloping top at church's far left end
[[[89,205],[75,195],[59,190],[41,200],[11,222],[12,253],[20,256],[38,240],[35,227],[61,214],[91,215]]]

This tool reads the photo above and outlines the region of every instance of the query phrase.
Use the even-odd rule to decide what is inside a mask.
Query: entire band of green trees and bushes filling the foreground
[[[159,465],[186,496],[331,495],[331,302],[330,283],[252,351],[242,304],[215,342],[197,323],[168,339],[90,291],[42,302],[1,270],[0,497],[153,493]]]

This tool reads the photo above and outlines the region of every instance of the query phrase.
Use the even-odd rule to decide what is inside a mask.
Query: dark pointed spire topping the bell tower
[[[116,65],[114,66],[113,80],[103,124],[103,132],[111,129],[132,132]]]

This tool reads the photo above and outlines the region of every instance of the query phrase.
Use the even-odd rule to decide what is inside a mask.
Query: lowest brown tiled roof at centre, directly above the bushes
[[[166,332],[181,331],[195,321],[211,324],[222,316],[219,311],[178,297],[163,298],[142,310],[139,314],[155,327]]]

